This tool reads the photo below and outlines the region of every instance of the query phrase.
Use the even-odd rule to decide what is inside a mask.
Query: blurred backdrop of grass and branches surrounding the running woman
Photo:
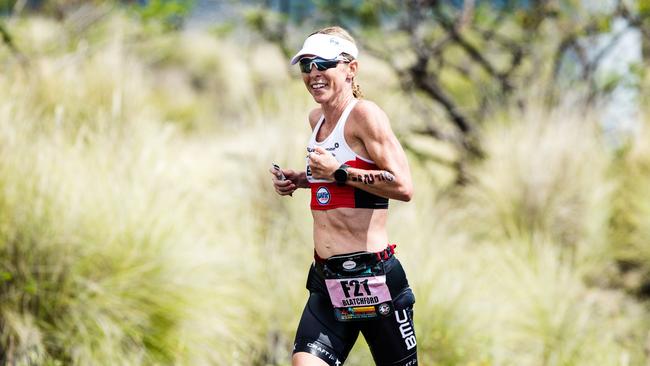
[[[650,1],[0,0],[0,364],[289,365],[341,25],[422,365],[650,365]],[[359,339],[347,365],[370,365]]]

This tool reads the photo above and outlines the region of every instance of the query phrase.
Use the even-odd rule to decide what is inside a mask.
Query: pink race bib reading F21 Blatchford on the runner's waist
[[[393,311],[385,275],[325,279],[325,284],[340,321],[388,316]]]

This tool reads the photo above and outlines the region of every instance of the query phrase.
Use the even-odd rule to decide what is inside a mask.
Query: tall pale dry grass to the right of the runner
[[[394,228],[408,238],[423,361],[645,364],[644,305],[599,285],[615,268],[619,177],[595,119],[570,110],[509,118],[484,131],[487,158],[470,184],[422,197],[417,180],[419,198]]]

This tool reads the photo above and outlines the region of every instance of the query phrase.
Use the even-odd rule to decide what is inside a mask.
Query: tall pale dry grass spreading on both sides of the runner
[[[276,196],[267,169],[302,167],[313,102],[286,60],[119,13],[83,33],[9,26],[30,63],[0,53],[4,361],[289,364],[311,218],[308,193]],[[364,91],[410,138],[416,114],[396,80],[362,65]],[[634,170],[612,173],[591,116],[503,115],[470,184],[443,190],[440,167],[411,159],[415,199],[391,206],[420,362],[644,365],[647,310],[606,280],[613,202]],[[347,364],[370,362],[360,341]]]

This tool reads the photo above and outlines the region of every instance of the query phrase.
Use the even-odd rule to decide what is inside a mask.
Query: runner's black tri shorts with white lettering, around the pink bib
[[[373,253],[374,254],[374,253]],[[395,256],[381,260],[393,299],[388,316],[341,322],[334,315],[322,265],[312,264],[307,277],[309,299],[296,332],[293,353],[307,352],[331,366],[343,365],[361,332],[377,365],[417,365],[413,327],[415,297]]]

